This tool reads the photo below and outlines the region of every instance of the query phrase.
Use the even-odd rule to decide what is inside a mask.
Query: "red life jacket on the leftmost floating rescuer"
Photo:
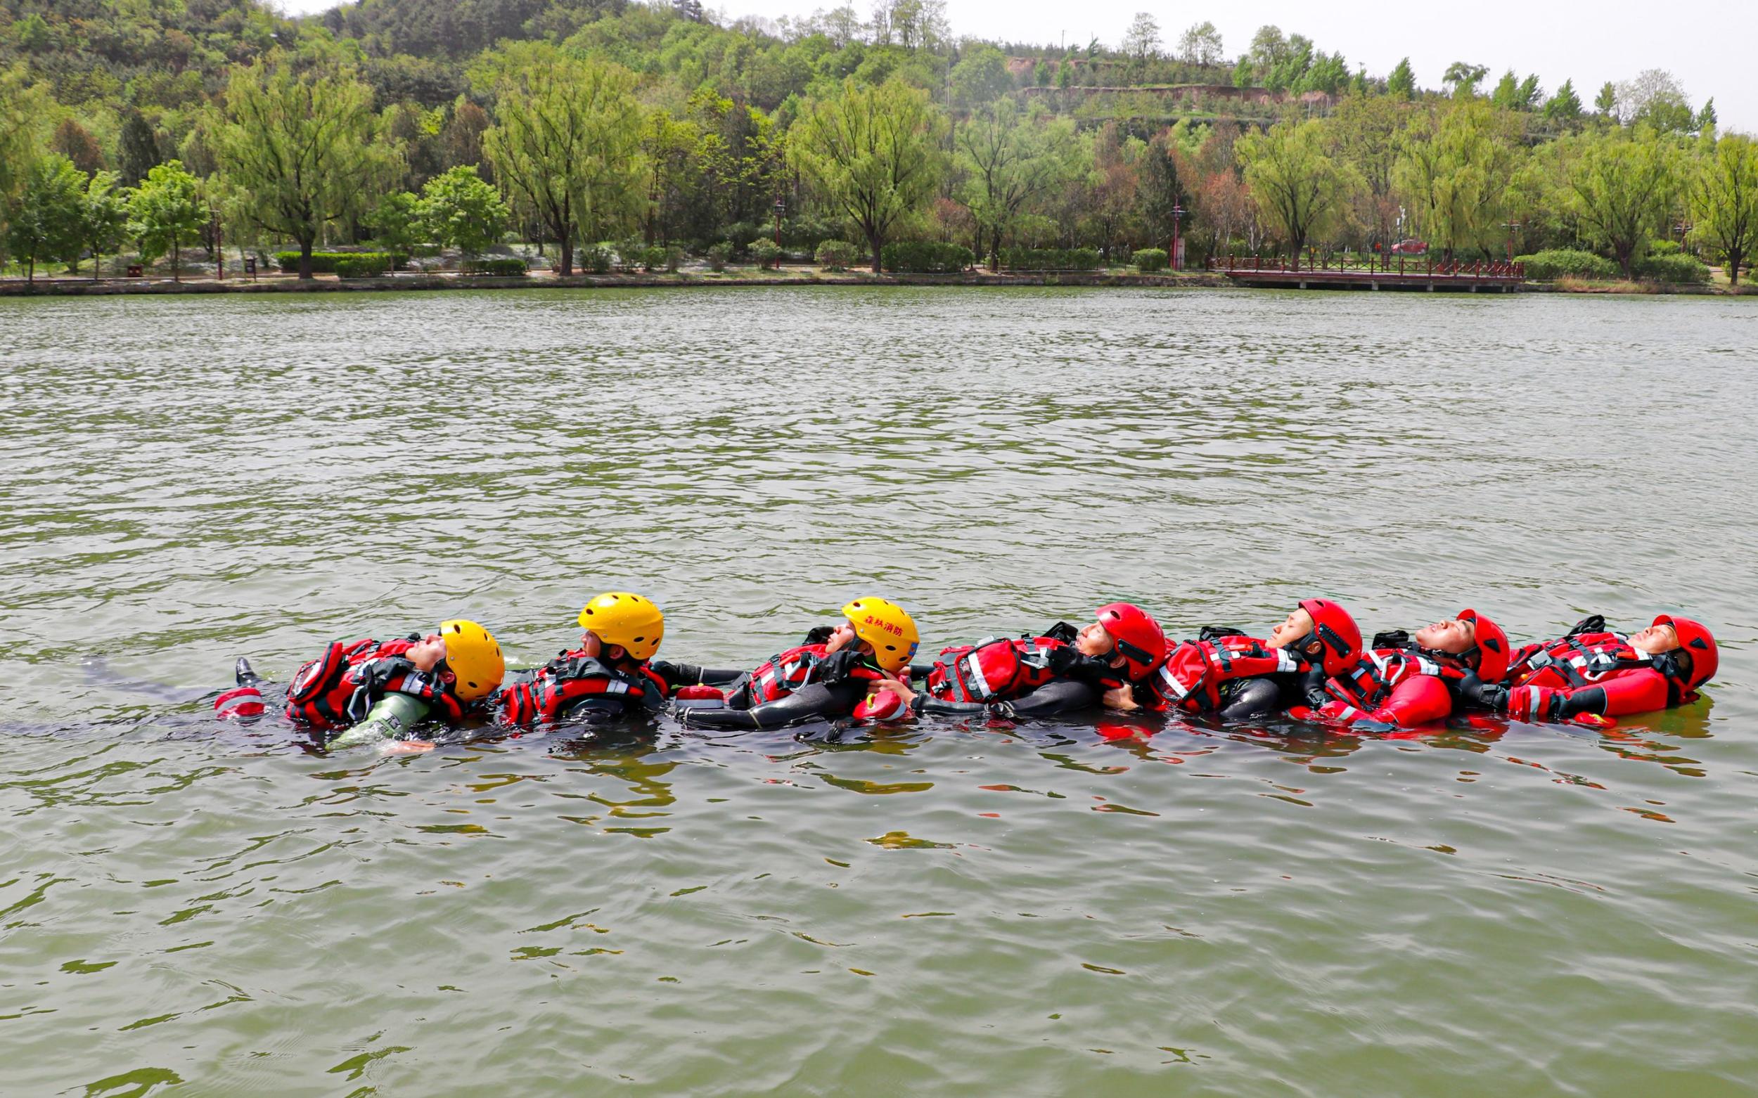
[[[287,687],[287,715],[316,729],[338,729],[364,720],[385,694],[408,694],[438,710],[447,724],[464,719],[464,706],[432,673],[404,659],[413,639],[334,641],[323,655],[294,673]]]

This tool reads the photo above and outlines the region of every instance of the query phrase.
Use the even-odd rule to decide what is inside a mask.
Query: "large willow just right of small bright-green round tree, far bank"
[[[573,274],[580,234],[614,228],[645,195],[635,74],[548,42],[510,42],[473,79],[496,97],[499,121],[482,135],[496,179]]]

